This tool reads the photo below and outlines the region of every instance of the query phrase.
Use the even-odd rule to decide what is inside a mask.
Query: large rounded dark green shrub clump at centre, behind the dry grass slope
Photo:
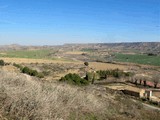
[[[79,75],[75,73],[74,74],[69,73],[65,75],[64,77],[60,79],[60,81],[67,82],[69,84],[74,84],[74,85],[88,85],[89,84],[89,81],[82,79]]]

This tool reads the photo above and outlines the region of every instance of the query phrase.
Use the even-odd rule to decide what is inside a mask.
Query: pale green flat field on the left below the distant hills
[[[49,59],[51,58],[51,50],[20,50],[20,51],[7,51],[0,53],[0,57],[9,58],[32,58],[32,59]],[[54,54],[54,53],[53,53]]]

